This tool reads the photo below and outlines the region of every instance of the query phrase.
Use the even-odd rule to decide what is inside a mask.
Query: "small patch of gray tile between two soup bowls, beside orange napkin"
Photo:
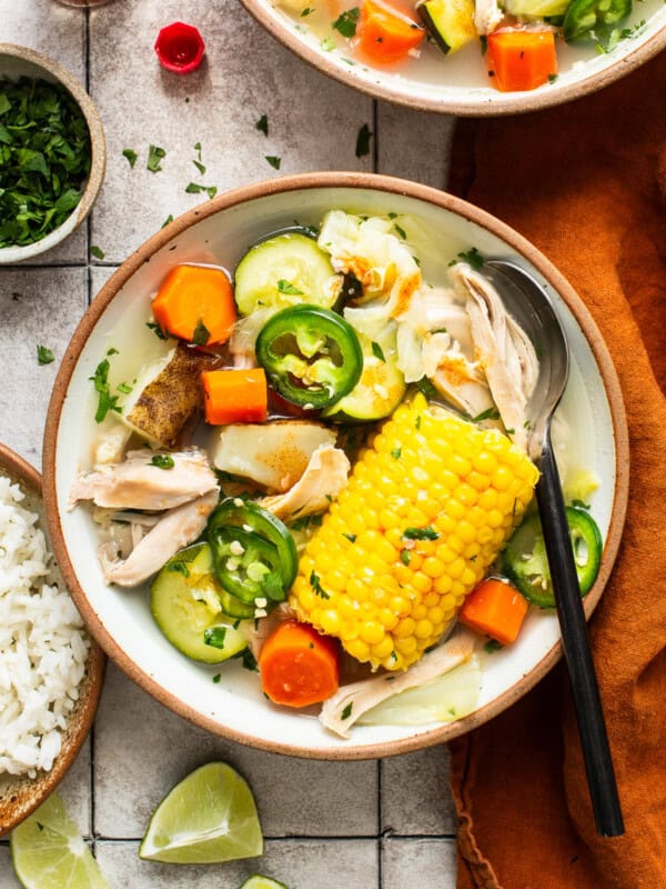
[[[445,188],[455,118],[379,102],[377,122],[377,172]]]

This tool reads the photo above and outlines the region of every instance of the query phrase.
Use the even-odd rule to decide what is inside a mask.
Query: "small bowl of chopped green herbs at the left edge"
[[[0,264],[64,240],[90,212],[105,161],[83,87],[46,56],[0,43]]]

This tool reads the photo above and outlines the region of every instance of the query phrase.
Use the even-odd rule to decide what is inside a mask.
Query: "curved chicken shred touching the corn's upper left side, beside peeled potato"
[[[305,472],[286,493],[264,497],[260,505],[280,519],[299,519],[323,512],[346,487],[351,465],[346,453],[333,444],[322,444]]]

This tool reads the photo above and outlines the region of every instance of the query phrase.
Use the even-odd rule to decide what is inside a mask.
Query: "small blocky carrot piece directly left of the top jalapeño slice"
[[[263,423],[266,419],[268,386],[263,368],[206,370],[201,374],[205,421]]]

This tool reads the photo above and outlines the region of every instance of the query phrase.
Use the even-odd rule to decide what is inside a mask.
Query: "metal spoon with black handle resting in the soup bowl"
[[[598,832],[605,837],[617,837],[624,833],[624,822],[589,651],[562,485],[551,443],[551,421],[568,377],[568,344],[547,293],[527,271],[513,262],[495,259],[484,263],[483,272],[502,297],[508,312],[532,340],[539,359],[538,379],[527,404],[531,419],[527,448],[529,457],[541,470],[536,499],[592,808]]]

